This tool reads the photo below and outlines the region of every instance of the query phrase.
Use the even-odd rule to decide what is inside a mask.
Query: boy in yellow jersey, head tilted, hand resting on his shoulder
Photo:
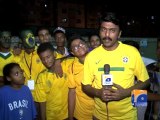
[[[47,70],[39,74],[36,80],[34,99],[40,105],[42,120],[63,120],[68,118],[68,80],[67,71],[69,59],[61,63],[63,77],[57,77],[55,70],[55,56],[50,43],[41,43],[37,53]],[[71,60],[73,61],[73,60]]]

